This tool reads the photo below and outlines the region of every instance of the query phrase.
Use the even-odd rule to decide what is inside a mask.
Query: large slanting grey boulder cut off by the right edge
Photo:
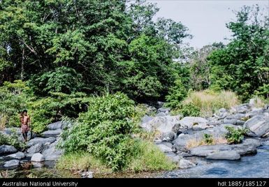
[[[269,136],[269,117],[265,115],[257,115],[247,120],[244,124],[245,128],[249,128],[248,135],[254,137]]]

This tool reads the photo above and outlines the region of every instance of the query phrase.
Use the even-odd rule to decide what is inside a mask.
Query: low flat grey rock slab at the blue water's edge
[[[209,154],[206,158],[212,160],[239,160],[240,154],[237,151],[220,151]]]

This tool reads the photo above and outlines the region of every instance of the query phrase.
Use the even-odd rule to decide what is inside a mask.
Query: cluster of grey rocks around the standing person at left
[[[68,124],[58,121],[48,125],[48,130],[41,135],[29,133],[31,140],[27,142],[25,151],[17,151],[15,147],[9,145],[0,146],[0,158],[3,160],[3,169],[14,169],[24,163],[31,162],[36,167],[42,167],[44,161],[57,160],[63,151],[56,148],[59,142],[59,135]],[[19,135],[19,141],[23,141],[20,128],[6,128],[1,133],[10,135],[12,132]]]

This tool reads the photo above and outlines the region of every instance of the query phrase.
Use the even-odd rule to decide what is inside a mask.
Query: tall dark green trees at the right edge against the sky
[[[246,100],[256,93],[268,98],[269,22],[259,7],[244,7],[236,22],[229,22],[233,40],[212,52],[211,87],[231,89]]]

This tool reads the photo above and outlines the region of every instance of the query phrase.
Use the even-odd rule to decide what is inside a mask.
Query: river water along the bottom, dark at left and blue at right
[[[113,174],[98,177],[158,177],[158,178],[269,178],[269,144],[259,147],[257,154],[242,156],[240,160],[206,160],[189,158],[198,163],[195,167],[170,172],[151,174]],[[2,162],[3,163],[3,162]],[[43,166],[43,167],[41,167]],[[26,162],[14,170],[0,167],[2,177],[80,177],[66,171],[54,169],[54,162],[31,165]]]

